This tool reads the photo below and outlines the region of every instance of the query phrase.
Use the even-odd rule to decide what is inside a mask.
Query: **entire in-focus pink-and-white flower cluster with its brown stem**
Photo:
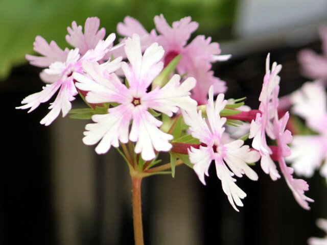
[[[190,41],[198,28],[190,17],[173,22],[172,27],[162,15],[154,22],[156,29],[149,33],[137,20],[126,17],[118,24],[124,38],[116,45],[115,34],[105,38],[96,17],[86,20],[84,32],[75,21],[68,27],[71,49],[62,50],[55,41],[36,37],[34,50],[41,56],[26,58],[44,68],[40,77],[46,85],[17,109],[31,112],[56,94],[41,124],[50,125],[60,111],[62,116],[70,113],[72,118],[91,119],[83,142],[97,145],[98,154],[112,146],[119,151],[132,179],[135,244],[144,243],[142,179],[156,174],[174,177],[180,164],[193,168],[205,184],[214,161],[222,189],[239,211],[246,193],[237,186],[236,177],[258,180],[250,164],[261,159],[263,171],[276,180],[281,177],[276,161],[296,201],[309,209],[308,202],[313,200],[304,194],[308,184],[294,179],[293,168],[285,163],[292,136],[286,130],[289,114],[279,118],[277,113],[282,66],[273,63],[270,69],[267,56],[259,110],[243,111],[242,99],[225,100],[225,82],[212,71],[213,62],[229,58],[220,55],[219,44],[201,35]],[[78,94],[87,108],[72,110]],[[243,122],[251,125],[241,138],[226,132],[226,125],[241,129]],[[275,141],[273,145],[268,137]],[[251,145],[245,144],[248,138],[253,138]],[[170,163],[160,163],[159,154],[164,152],[170,154]]]

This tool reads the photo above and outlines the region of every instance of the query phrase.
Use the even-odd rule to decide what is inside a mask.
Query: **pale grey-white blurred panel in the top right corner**
[[[235,34],[250,37],[285,32],[326,18],[326,0],[240,0]]]

